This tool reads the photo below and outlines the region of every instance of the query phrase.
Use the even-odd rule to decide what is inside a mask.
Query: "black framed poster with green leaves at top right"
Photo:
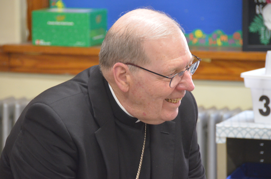
[[[243,0],[243,51],[271,50],[271,0]]]

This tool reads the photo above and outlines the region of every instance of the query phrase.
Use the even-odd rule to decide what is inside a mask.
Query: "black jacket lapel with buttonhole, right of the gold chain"
[[[151,125],[151,178],[172,179],[175,149],[175,122]],[[158,150],[157,150],[158,149]]]

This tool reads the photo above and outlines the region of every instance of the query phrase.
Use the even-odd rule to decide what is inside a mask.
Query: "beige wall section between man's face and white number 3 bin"
[[[227,107],[230,110],[252,109],[251,92],[244,86],[244,82],[194,80],[194,84],[195,89],[192,93],[198,106],[214,106],[218,109]]]

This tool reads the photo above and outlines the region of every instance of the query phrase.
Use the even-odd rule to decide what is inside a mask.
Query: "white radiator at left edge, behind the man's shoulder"
[[[0,154],[12,126],[29,102],[26,98],[15,99],[13,97],[0,100]]]

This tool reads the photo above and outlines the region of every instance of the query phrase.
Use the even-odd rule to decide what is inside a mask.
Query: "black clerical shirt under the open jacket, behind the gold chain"
[[[138,172],[144,143],[145,123],[141,121],[136,123],[138,120],[137,118],[130,117],[128,114],[126,114],[114,99],[107,82],[105,83],[105,86],[112,106],[116,124],[120,179],[135,179]],[[147,124],[145,149],[139,179],[151,178],[151,153],[149,134],[149,125]]]

